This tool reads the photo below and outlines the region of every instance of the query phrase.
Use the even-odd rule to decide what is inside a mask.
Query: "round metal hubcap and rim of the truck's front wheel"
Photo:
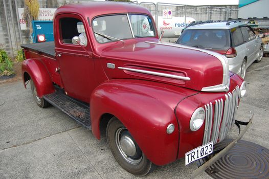
[[[116,144],[123,159],[128,163],[136,165],[141,162],[143,153],[125,127],[116,131]]]

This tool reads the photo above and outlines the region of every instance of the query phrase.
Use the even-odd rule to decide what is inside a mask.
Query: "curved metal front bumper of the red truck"
[[[242,124],[242,125],[247,124],[246,127],[243,129],[243,131],[240,132],[239,136],[236,139],[234,139],[228,146],[226,146],[220,152],[218,152],[215,156],[213,156],[213,158],[211,158],[209,161],[207,161],[206,163],[204,163],[203,165],[201,165],[199,168],[197,168],[196,170],[194,170],[193,173],[192,173],[192,175],[191,175],[191,178],[195,178],[196,176],[199,176],[208,167],[210,167],[213,163],[215,163],[223,155],[225,155],[225,153],[227,151],[229,151],[231,148],[233,148],[234,145],[237,143],[237,141],[239,141],[243,137],[243,135],[246,132],[246,130],[248,130],[248,128],[252,124],[252,120],[253,120],[253,113],[250,114],[250,121],[248,123],[237,121],[237,124]]]

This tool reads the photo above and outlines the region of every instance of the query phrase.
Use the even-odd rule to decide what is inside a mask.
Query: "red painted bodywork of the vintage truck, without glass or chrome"
[[[200,92],[202,87],[222,82],[222,66],[216,57],[207,53],[145,42],[158,42],[158,35],[127,39],[124,43],[98,43],[87,17],[92,23],[96,16],[115,13],[140,13],[151,17],[147,9],[123,3],[62,6],[54,16],[55,51],[61,53],[61,57],[53,59],[26,50],[28,60],[23,63],[23,73],[29,73],[34,79],[40,97],[53,93],[52,84],[56,83],[69,96],[90,103],[92,131],[96,138],[100,139],[101,116],[112,114],[128,128],[149,160],[165,165],[201,145],[204,126],[196,132],[190,131],[190,117],[197,107],[226,94]],[[87,52],[80,46],[60,41],[61,17],[82,21],[88,38]],[[114,63],[116,68],[107,68],[107,63]],[[185,76],[191,80],[129,72],[118,69],[120,66]],[[60,74],[55,72],[58,67]],[[241,82],[240,77],[233,75],[230,91]],[[166,128],[170,123],[175,125],[175,131],[168,135]]]

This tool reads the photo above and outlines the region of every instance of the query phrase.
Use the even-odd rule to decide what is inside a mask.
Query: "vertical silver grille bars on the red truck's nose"
[[[206,116],[203,144],[211,141],[213,144],[216,144],[218,139],[219,141],[225,139],[232,124],[235,122],[238,97],[239,86],[236,86],[232,93],[230,92],[225,95],[225,101],[223,99],[215,100],[214,109],[211,102],[205,105]]]

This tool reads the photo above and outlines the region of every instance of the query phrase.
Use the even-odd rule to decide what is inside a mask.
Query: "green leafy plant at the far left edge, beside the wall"
[[[14,74],[13,72],[13,62],[8,57],[5,50],[0,49],[0,76],[9,76]]]

